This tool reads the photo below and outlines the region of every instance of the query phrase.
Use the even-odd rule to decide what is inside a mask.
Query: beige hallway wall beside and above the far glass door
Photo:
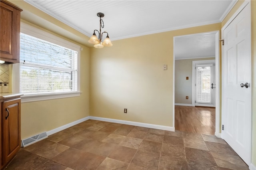
[[[192,61],[208,59],[215,57],[175,60],[175,103],[192,105]]]

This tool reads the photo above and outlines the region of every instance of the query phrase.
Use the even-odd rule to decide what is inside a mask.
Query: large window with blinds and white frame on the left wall
[[[55,95],[56,99],[68,97],[66,94],[80,94],[80,46],[72,46],[70,42],[59,37],[26,24],[22,25],[24,29],[21,29],[20,34],[20,93],[24,94],[24,98],[44,96],[44,99],[52,99]],[[34,32],[31,32],[31,29]],[[47,95],[51,97],[45,97]]]

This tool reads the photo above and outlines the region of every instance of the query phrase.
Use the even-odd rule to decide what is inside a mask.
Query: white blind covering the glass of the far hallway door
[[[213,90],[211,89],[212,83],[212,66],[196,67],[197,84],[196,84],[196,102],[212,104]]]

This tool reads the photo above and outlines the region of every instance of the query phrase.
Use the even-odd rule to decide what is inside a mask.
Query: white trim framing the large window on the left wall
[[[69,49],[77,51],[77,91],[75,92],[61,92],[61,93],[49,93],[49,94],[26,94],[21,96],[21,103],[32,102],[32,101],[42,101],[51,99],[61,99],[66,97],[78,97],[80,96],[80,45],[64,40],[58,36],[25,24],[20,23],[20,32],[34,36],[36,38],[52,42]],[[20,63],[12,65],[12,93],[20,93]]]

